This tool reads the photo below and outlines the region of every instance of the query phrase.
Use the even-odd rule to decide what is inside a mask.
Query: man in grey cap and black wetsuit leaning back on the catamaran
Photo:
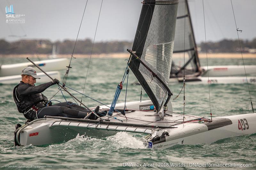
[[[43,118],[45,115],[84,118],[90,113],[90,110],[72,102],[52,104],[42,92],[59,83],[59,80],[55,78],[48,83],[35,86],[37,78],[40,79],[36,75],[36,70],[32,67],[26,67],[21,72],[20,83],[13,89],[13,98],[18,111],[30,121]],[[95,108],[94,112],[100,117],[106,115],[106,112],[99,112],[99,106]],[[89,117],[93,120],[97,118],[94,114]]]

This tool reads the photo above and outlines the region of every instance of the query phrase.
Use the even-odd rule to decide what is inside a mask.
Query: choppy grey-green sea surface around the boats
[[[36,58],[32,58],[36,61]],[[1,58],[1,64],[27,62],[24,58]],[[255,65],[256,59],[244,59],[245,64]],[[116,91],[116,86],[122,80],[127,61],[114,58],[92,58],[84,87],[89,58],[72,59],[67,85],[72,89],[92,97],[104,104],[110,104]],[[242,65],[242,59],[208,59],[209,65]],[[206,65],[206,59],[201,59],[201,65]],[[63,78],[66,70],[60,71]],[[128,79],[127,100],[140,100],[140,85],[132,85],[136,81],[130,72]],[[62,82],[62,80],[61,80]],[[18,84],[19,82],[17,82]],[[77,136],[75,139],[60,144],[50,144],[44,147],[33,145],[14,146],[13,131],[15,124],[24,124],[25,117],[18,113],[12,98],[15,84],[0,85],[0,169],[199,169],[202,164],[233,164],[238,167],[227,169],[256,168],[256,134],[221,139],[212,144],[176,145],[160,151],[147,150],[147,144],[142,135],[119,132],[106,138]],[[176,96],[182,84],[169,86]],[[249,84],[254,111],[256,110],[256,86]],[[124,102],[125,89],[121,92],[118,102]],[[51,86],[43,93],[50,99],[58,91],[57,86]],[[78,99],[81,94],[69,91]],[[67,100],[73,101],[64,93]],[[183,92],[177,100],[172,100],[174,112],[183,113]],[[208,85],[185,86],[185,114],[209,116]],[[252,113],[252,107],[247,84],[210,85],[211,110],[213,116],[238,115]],[[54,100],[65,101],[61,93]],[[148,100],[142,90],[142,100]],[[88,107],[99,103],[83,98]],[[196,164],[192,166],[192,163]],[[135,166],[142,167],[135,167]],[[190,166],[191,165],[191,166]],[[41,166],[41,167],[39,167]],[[48,166],[48,167],[46,167]],[[49,167],[51,166],[51,167]],[[156,167],[157,166],[157,167]],[[174,167],[171,167],[174,166]],[[205,168],[205,167],[201,167]],[[216,169],[207,167],[207,169]],[[218,167],[217,169],[223,169]]]

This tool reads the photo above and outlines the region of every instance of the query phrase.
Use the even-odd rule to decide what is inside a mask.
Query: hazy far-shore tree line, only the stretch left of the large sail
[[[8,42],[0,40],[0,54],[51,54],[55,49],[56,54],[72,54],[75,41],[64,40],[51,42],[49,40],[20,40]],[[55,46],[55,48],[53,48]],[[129,41],[95,42],[92,51],[92,40],[78,40],[74,49],[74,54],[100,54],[100,53],[120,53],[127,48],[132,48]]]

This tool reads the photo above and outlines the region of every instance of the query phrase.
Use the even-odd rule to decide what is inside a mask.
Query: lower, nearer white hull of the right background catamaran
[[[188,77],[186,83],[208,84],[208,77]],[[247,77],[248,83],[256,84],[256,77]],[[170,83],[183,83],[183,78],[170,78]],[[209,77],[210,84],[243,84],[246,77]]]

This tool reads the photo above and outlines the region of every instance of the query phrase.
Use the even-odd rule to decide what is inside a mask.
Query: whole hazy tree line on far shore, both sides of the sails
[[[174,42],[175,43],[175,42]],[[250,52],[256,48],[256,38],[252,41],[240,41],[242,51]],[[4,39],[0,40],[0,54],[51,54],[55,49],[56,54],[72,54],[75,41],[64,40],[51,42],[50,40],[19,40],[8,42]],[[55,46],[55,48],[53,48]],[[197,45],[199,52],[212,53],[236,53],[240,52],[238,40],[224,39],[218,42],[204,42]],[[126,49],[132,48],[131,41],[107,41],[95,42],[93,45],[93,54],[100,53],[121,53]],[[74,54],[90,54],[92,50],[92,40],[84,39],[76,42]],[[255,50],[254,50],[255,51]]]

